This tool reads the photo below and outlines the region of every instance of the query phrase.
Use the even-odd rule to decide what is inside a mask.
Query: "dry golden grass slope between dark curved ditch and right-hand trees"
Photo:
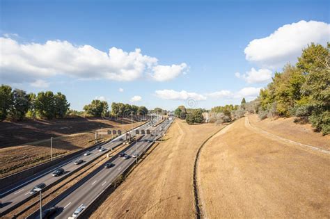
[[[329,136],[292,119],[237,120],[201,150],[203,216],[329,218],[329,144]]]

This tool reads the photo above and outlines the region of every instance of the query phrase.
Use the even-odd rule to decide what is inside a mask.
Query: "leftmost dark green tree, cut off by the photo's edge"
[[[6,120],[10,106],[13,105],[13,92],[10,86],[0,87],[0,121]]]

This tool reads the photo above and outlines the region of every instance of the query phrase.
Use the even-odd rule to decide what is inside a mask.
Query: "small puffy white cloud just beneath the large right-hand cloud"
[[[239,79],[244,79],[247,83],[262,83],[272,79],[272,71],[267,68],[256,70],[254,67],[251,68],[246,74],[235,73],[235,76]]]

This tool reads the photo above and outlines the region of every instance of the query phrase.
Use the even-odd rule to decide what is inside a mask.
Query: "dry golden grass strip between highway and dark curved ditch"
[[[165,140],[150,149],[91,218],[194,218],[195,156],[203,141],[221,128],[175,120]]]

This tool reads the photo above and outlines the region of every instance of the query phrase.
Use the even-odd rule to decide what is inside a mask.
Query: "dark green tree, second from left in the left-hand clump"
[[[10,117],[13,120],[23,120],[29,110],[29,95],[24,90],[15,89],[13,91],[13,104],[10,107]]]

